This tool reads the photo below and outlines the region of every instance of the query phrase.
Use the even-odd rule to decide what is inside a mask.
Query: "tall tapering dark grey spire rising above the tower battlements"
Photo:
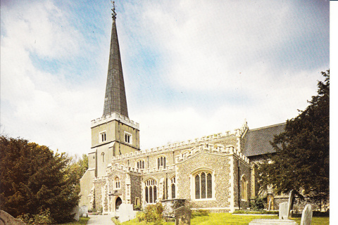
[[[116,30],[115,2],[112,2],[113,25],[111,28],[111,51],[109,54],[106,95],[104,98],[104,116],[111,113],[120,113],[128,116],[127,98],[125,96],[125,82],[123,80],[120,47],[118,45],[118,32]]]

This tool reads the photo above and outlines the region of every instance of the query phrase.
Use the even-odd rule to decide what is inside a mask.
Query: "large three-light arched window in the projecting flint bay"
[[[213,175],[211,172],[194,174],[195,199],[213,198]]]

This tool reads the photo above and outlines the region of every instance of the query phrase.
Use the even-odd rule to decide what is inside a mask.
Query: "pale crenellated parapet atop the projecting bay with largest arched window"
[[[197,148],[192,148],[189,150],[189,152],[182,153],[180,155],[177,155],[175,157],[175,163],[183,162],[185,160],[188,160],[193,155],[196,155],[196,153],[216,153],[218,155],[237,155],[240,159],[242,159],[244,162],[249,163],[249,158],[246,158],[243,153],[241,153],[239,150],[234,148],[234,146],[221,146],[221,145],[211,145],[209,144],[203,144],[200,145]]]

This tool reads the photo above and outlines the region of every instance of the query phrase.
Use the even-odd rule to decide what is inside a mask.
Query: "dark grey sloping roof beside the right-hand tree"
[[[246,157],[250,157],[254,155],[275,153],[270,141],[273,141],[275,135],[280,134],[285,130],[285,124],[286,123],[275,124],[247,131],[243,140],[243,154]]]

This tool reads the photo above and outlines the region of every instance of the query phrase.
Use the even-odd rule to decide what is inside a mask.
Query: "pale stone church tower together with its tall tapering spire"
[[[80,195],[83,197],[80,200],[80,205],[92,204],[90,203],[93,199],[91,196],[92,180],[94,177],[106,175],[111,158],[139,150],[139,124],[129,119],[127,110],[125,82],[115,23],[115,7],[112,11],[113,25],[104,114],[101,118],[92,120],[92,148],[88,153],[89,169],[81,179]]]

